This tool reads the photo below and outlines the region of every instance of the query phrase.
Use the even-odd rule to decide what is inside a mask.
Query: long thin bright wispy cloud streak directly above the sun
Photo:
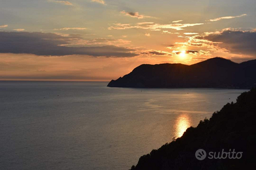
[[[131,28],[140,28],[144,30],[153,30],[160,31],[162,29],[173,29],[173,30],[183,30],[183,28],[189,26],[199,26],[203,25],[203,23],[195,23],[195,24],[155,24],[154,22],[145,22],[145,23],[137,23],[137,24],[113,24],[114,26],[110,26],[109,30],[125,30]]]

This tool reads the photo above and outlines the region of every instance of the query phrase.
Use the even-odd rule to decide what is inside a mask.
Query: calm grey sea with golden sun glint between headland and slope
[[[0,82],[0,169],[127,170],[245,90]]]

